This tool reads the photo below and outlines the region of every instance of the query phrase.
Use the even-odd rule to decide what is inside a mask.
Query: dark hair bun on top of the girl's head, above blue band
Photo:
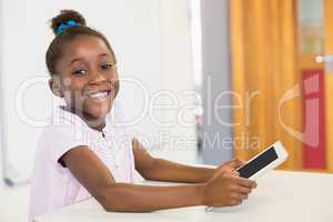
[[[67,23],[70,20],[73,20],[80,23],[81,26],[87,26],[85,19],[79,12],[74,10],[61,10],[60,14],[52,18],[51,20],[51,29],[53,30],[53,33],[57,34],[59,26],[61,26],[62,23]]]

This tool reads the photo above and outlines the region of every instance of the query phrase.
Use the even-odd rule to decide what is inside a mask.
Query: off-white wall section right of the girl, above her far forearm
[[[160,28],[161,89],[170,94],[159,97],[157,103],[174,104],[174,108],[154,112],[160,113],[161,121],[170,123],[160,127],[162,144],[158,151],[160,157],[193,163],[196,160],[196,134],[190,1],[160,0]]]

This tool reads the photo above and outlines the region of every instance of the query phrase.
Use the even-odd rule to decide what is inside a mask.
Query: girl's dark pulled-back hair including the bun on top
[[[77,22],[79,26],[69,27],[69,28],[64,29],[63,31],[61,31],[60,33],[57,33],[59,27],[63,23],[67,23],[70,20]],[[56,37],[52,40],[52,42],[50,43],[49,49],[46,54],[47,67],[48,67],[49,73],[51,75],[58,74],[57,70],[56,70],[56,64],[57,64],[59,58],[61,58],[61,56],[62,56],[63,46],[70,41],[73,41],[75,38],[82,37],[82,36],[97,37],[97,38],[101,39],[107,44],[109,50],[111,51],[111,54],[115,62],[115,56],[114,56],[114,52],[113,52],[108,39],[101,32],[88,27],[85,19],[79,12],[77,12],[74,10],[61,10],[60,14],[52,18],[51,29],[53,30],[53,33],[56,34]]]

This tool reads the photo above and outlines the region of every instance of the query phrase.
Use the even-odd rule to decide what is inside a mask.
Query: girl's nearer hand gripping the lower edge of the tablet
[[[254,181],[239,178],[236,172],[229,172],[222,168],[203,186],[202,202],[209,206],[239,205],[255,186]]]

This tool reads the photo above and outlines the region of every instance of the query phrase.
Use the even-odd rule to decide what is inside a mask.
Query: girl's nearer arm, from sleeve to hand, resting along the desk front
[[[208,183],[179,186],[149,186],[117,183],[109,169],[88,148],[77,147],[61,160],[74,178],[107,211],[150,212],[192,205],[240,204],[254,182],[221,171]]]

